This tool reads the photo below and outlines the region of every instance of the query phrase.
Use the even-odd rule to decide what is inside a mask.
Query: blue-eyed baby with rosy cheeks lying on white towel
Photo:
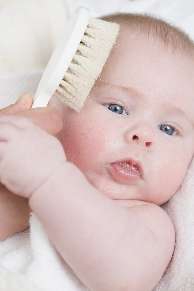
[[[63,120],[55,137],[27,118],[0,117],[0,182],[29,198],[90,290],[150,291],[175,246],[159,205],[194,154],[194,44],[149,16],[102,19],[120,33],[80,113],[53,96]]]

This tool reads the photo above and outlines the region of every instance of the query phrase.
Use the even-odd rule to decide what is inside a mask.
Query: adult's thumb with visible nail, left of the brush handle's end
[[[5,108],[0,109],[0,115],[10,115],[23,110],[30,109],[33,103],[32,96],[25,92],[23,93],[18,100]]]

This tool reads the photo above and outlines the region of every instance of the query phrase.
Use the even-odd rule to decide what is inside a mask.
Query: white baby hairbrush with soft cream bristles
[[[54,94],[80,112],[116,40],[119,25],[75,10],[42,74],[31,108],[47,106]]]

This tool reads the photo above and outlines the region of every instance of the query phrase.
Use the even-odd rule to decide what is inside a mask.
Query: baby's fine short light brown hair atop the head
[[[194,42],[182,29],[169,24],[159,17],[147,13],[118,13],[100,17],[102,20],[120,24],[120,33],[124,31],[147,34],[161,40],[165,49],[169,47],[173,52],[181,52],[193,59]]]

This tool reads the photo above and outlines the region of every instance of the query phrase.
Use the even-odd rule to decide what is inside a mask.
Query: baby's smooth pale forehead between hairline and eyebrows
[[[169,101],[171,106],[181,107],[194,116],[194,59],[191,61],[190,56],[182,52],[170,52],[154,36],[121,29],[100,79],[133,87],[157,99],[155,105]],[[102,86],[99,81],[98,85]],[[113,90],[116,92],[114,88],[111,92]]]

